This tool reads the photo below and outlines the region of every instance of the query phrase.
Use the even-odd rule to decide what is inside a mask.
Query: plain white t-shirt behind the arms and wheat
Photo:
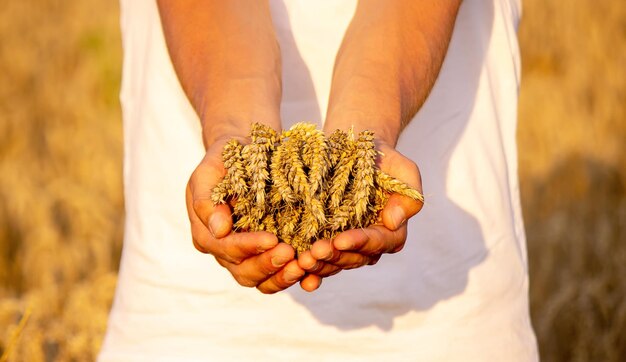
[[[156,4],[122,0],[126,229],[100,361],[528,361],[536,341],[515,143],[516,0],[465,0],[443,68],[398,149],[426,205],[404,250],[275,295],[197,252],[184,202],[204,155]],[[272,1],[283,126],[321,123],[355,0]]]

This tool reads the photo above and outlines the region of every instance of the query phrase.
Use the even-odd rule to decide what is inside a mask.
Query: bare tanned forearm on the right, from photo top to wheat
[[[325,128],[394,146],[441,68],[460,0],[362,0],[337,54]]]

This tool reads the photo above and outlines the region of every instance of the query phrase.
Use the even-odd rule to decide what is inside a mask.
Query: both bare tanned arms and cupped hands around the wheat
[[[281,60],[267,1],[158,1],[172,62],[202,123],[206,155],[192,173],[186,201],[193,243],[235,280],[263,293],[300,283],[314,291],[344,269],[400,251],[407,220],[422,207],[392,195],[382,224],[319,240],[295,258],[267,232],[232,232],[228,205],[213,205],[224,176],[227,140],[245,142],[255,120],[280,130]],[[337,54],[324,130],[369,129],[378,166],[421,191],[419,169],[394,147],[437,77],[460,5],[455,1],[360,1]]]

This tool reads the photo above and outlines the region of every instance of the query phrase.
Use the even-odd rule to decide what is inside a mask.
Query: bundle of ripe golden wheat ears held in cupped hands
[[[314,124],[298,123],[278,135],[255,123],[251,138],[224,146],[226,175],[213,202],[234,205],[235,230],[272,232],[298,253],[317,239],[372,225],[390,193],[424,200],[377,168],[371,131],[326,137]]]

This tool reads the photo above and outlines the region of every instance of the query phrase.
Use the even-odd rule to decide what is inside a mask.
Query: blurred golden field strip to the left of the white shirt
[[[17,361],[88,361],[101,343],[123,221],[117,11],[0,6],[0,355]]]

